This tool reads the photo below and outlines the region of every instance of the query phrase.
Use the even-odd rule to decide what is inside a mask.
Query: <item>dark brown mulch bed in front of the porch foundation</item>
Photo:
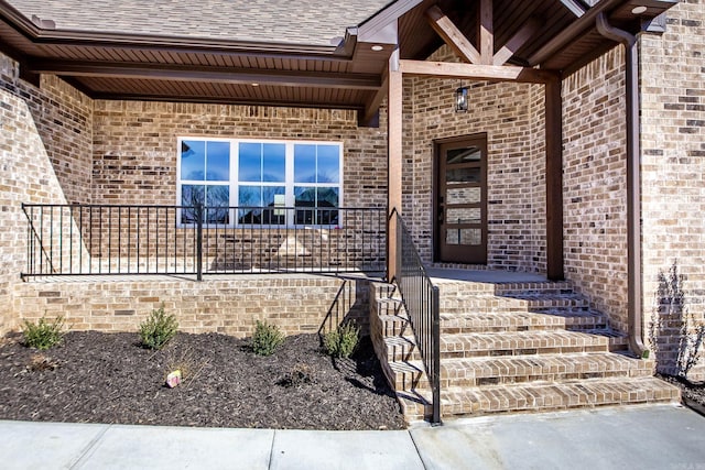
[[[72,331],[36,351],[0,346],[0,419],[275,429],[403,429],[399,404],[369,339],[350,359],[321,351],[317,335],[286,338],[271,357],[248,340],[180,332],[162,351],[137,334]],[[186,365],[184,368],[184,365]],[[166,373],[185,369],[169,389]]]

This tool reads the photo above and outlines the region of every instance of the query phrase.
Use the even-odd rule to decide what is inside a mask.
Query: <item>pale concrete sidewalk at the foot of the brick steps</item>
[[[455,420],[402,431],[0,422],[3,469],[703,469],[705,418],[674,405]]]

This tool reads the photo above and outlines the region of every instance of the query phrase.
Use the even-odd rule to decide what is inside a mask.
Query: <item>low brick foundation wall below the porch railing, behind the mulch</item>
[[[72,330],[137,331],[164,303],[180,330],[251,336],[256,320],[285,335],[329,330],[354,319],[369,334],[369,281],[311,275],[20,283],[14,303],[22,319],[63,315]]]

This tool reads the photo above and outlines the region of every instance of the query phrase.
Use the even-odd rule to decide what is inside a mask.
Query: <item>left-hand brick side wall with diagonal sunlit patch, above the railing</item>
[[[66,203],[64,188],[77,189],[82,184],[80,178],[74,185],[64,184],[75,168],[80,170],[79,163],[73,166],[80,159],[80,146],[69,147],[89,135],[68,125],[79,116],[89,122],[88,108],[80,103],[84,100],[57,79],[44,79],[41,89],[21,81],[17,64],[0,55],[0,335],[18,326],[12,289],[25,271],[28,247],[21,205]],[[65,136],[50,130],[53,119],[69,130]],[[68,162],[56,156],[62,161],[52,164],[50,152],[55,156],[73,153]]]

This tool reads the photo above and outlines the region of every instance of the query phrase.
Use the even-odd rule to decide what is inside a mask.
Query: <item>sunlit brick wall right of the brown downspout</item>
[[[703,37],[705,1],[688,0],[669,10],[662,36],[643,35],[640,42],[643,315],[647,329],[653,319],[660,324],[659,343],[652,346],[659,368],[671,373],[682,325],[705,321]],[[691,378],[705,380],[705,360]]]

